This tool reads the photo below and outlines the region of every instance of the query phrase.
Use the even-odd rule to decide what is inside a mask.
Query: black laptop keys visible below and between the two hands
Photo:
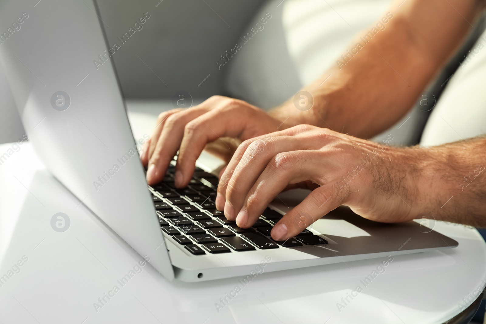
[[[217,187],[217,177],[196,168],[188,187],[175,188],[174,166],[170,165],[164,179],[150,186],[164,235],[170,236],[193,255],[328,244],[328,241],[307,229],[286,241],[273,240],[270,232],[282,215],[270,208],[263,211],[252,227],[238,227],[216,209],[214,200]]]

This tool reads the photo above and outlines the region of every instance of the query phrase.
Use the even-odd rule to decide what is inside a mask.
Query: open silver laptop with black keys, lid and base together
[[[101,19],[93,0],[2,1],[0,59],[29,139],[49,171],[168,280],[197,282],[252,275],[262,267],[273,272],[458,245],[423,223],[372,222],[344,206],[276,242],[272,226],[305,191],[282,193],[252,228],[240,229],[216,210],[218,179],[204,166],[178,189],[174,160],[163,181],[148,186],[138,154],[146,138],[132,135],[112,62],[123,44],[111,50]]]

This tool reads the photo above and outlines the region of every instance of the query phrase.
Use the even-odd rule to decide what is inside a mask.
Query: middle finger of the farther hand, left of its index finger
[[[173,114],[165,120],[164,128],[158,137],[154,153],[149,160],[147,170],[147,182],[149,184],[155,184],[164,177],[167,166],[179,149],[186,124],[207,111],[208,108],[194,107],[193,109]],[[177,177],[177,174],[175,176]]]

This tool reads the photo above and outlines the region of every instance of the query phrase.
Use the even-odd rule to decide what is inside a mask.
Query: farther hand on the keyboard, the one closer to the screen
[[[222,96],[213,96],[185,111],[164,112],[158,116],[154,133],[140,154],[143,165],[148,165],[147,182],[155,184],[162,180],[179,151],[175,185],[185,187],[207,143],[221,137],[245,140],[284,128],[282,120],[270,117],[259,108]]]

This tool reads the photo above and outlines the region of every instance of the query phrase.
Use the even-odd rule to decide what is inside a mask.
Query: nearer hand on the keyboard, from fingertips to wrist
[[[411,220],[420,212],[419,171],[409,164],[416,154],[387,144],[310,125],[245,140],[221,176],[216,206],[247,228],[285,188],[313,189],[275,225],[276,240],[295,236],[340,205],[374,221]]]

